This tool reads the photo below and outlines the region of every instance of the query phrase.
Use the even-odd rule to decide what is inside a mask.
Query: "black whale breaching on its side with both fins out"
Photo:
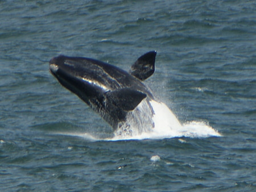
[[[155,57],[156,51],[145,53],[126,72],[95,59],[59,55],[49,61],[49,70],[61,85],[93,108],[114,130],[120,127],[126,130],[129,120],[134,118],[154,128],[150,101],[155,98],[142,81],[154,73]],[[138,105],[144,105],[144,111]],[[143,114],[145,111],[147,115]]]

